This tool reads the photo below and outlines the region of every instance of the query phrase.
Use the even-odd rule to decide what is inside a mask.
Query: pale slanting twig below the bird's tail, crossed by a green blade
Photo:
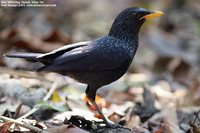
[[[54,82],[53,85],[51,86],[51,88],[49,89],[48,93],[46,94],[46,96],[42,99],[42,101],[47,101],[51,97],[53,92],[56,90],[56,88],[57,88],[57,83]],[[39,109],[39,106],[35,105],[29,112],[27,112],[23,116],[19,117],[17,120],[27,118],[28,116],[35,113],[38,109]]]

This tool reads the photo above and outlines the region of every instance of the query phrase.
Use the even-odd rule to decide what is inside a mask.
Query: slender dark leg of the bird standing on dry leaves
[[[95,109],[98,111],[98,113],[101,115],[104,123],[109,126],[111,125],[110,122],[108,122],[107,118],[104,116],[103,112],[101,111],[101,109],[98,107],[97,103],[95,102],[95,97],[96,97],[96,89],[91,89],[89,86],[86,89],[86,95],[88,97],[88,99],[90,100],[90,102],[92,103],[92,105],[95,107]]]

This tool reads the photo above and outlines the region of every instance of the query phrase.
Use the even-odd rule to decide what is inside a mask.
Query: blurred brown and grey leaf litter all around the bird
[[[24,19],[9,14],[9,18],[4,18],[3,15],[0,54],[12,50],[48,52],[107,33],[109,26],[97,23],[94,21],[96,17],[88,12],[101,11],[106,14],[102,19],[111,23],[117,12],[127,5],[159,6],[159,2],[153,1],[115,2],[119,9],[111,12],[110,16],[99,6],[111,7],[112,2],[106,0],[97,3],[68,1],[63,3],[68,7],[62,8],[65,14],[43,9],[41,17],[35,15],[33,9],[22,9],[26,12]],[[161,8],[166,10],[165,17],[154,25],[147,23],[129,72],[118,82],[99,90],[98,105],[110,120],[132,129],[131,132],[199,133],[199,2],[175,0],[171,8],[163,3]],[[3,11],[8,12],[8,9]],[[11,13],[13,11],[10,9]],[[16,15],[20,17],[21,12]],[[34,21],[28,21],[30,16]],[[191,21],[180,23],[186,19],[191,20],[196,29],[193,29]],[[7,26],[5,22],[8,20],[16,24]],[[94,26],[97,24],[100,25],[98,28]],[[194,34],[191,33],[193,30]],[[24,71],[38,65],[24,60],[2,57],[0,64],[0,116],[4,116],[0,117],[1,133],[86,133],[94,132],[95,123],[101,123],[99,115],[84,96],[85,85],[55,73]],[[51,89],[55,82],[56,87]],[[95,132],[106,132],[106,129]]]

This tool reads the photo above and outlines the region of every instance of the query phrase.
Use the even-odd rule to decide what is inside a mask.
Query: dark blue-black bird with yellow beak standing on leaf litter
[[[53,71],[87,84],[86,95],[104,122],[95,103],[96,91],[123,76],[138,48],[138,33],[145,20],[163,15],[160,11],[128,8],[114,20],[108,35],[88,42],[66,45],[49,53],[8,53],[44,64],[38,71]]]

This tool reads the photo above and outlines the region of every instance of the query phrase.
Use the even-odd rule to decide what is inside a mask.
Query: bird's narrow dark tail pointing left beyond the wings
[[[10,58],[24,58],[30,61],[38,61],[37,56],[42,55],[41,53],[25,53],[25,52],[11,52],[4,56]]]

